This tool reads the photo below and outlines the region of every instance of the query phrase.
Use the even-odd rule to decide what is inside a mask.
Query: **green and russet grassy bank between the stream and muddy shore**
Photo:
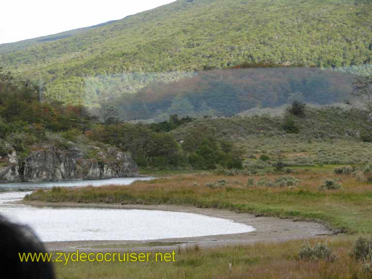
[[[352,175],[297,171],[296,186],[277,186],[284,174],[267,176],[180,175],[131,186],[53,188],[27,195],[28,201],[179,204],[225,208],[261,216],[322,221],[349,233],[372,233],[372,184]],[[319,190],[325,179],[336,179],[339,190]],[[284,179],[285,180],[285,179]]]

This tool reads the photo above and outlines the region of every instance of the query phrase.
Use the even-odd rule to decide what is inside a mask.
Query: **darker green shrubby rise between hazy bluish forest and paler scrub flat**
[[[296,131],[288,131],[285,121],[290,119]],[[252,135],[265,137],[297,134],[303,140],[310,139],[361,139],[371,135],[372,120],[368,111],[360,109],[343,109],[326,107],[322,109],[307,108],[304,117],[290,113],[283,116],[234,116],[218,118],[199,118],[183,124],[172,133],[182,140],[192,130],[203,127],[217,138],[231,140],[249,139]],[[372,139],[371,139],[372,141]]]

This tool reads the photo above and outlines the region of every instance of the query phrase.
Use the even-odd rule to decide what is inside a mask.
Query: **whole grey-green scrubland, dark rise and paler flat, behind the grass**
[[[160,125],[160,124],[157,124]],[[289,166],[356,164],[372,156],[372,120],[359,109],[307,108],[303,117],[245,116],[202,118],[170,133],[187,146],[204,135],[227,140],[245,155],[245,166],[261,170],[281,158]],[[265,159],[259,159],[261,155]]]

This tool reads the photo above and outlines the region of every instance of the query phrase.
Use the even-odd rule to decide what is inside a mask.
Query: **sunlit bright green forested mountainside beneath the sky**
[[[121,91],[135,92],[242,62],[370,63],[371,18],[372,4],[361,0],[178,0],[65,38],[2,45],[0,65],[42,79],[47,99],[84,103],[87,77],[119,74]]]

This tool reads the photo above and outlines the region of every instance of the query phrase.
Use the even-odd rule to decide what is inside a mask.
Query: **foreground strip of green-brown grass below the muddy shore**
[[[66,266],[59,263],[55,267],[59,279],[370,278],[361,267],[363,262],[350,256],[353,238],[326,241],[336,256],[334,261],[298,260],[301,247],[305,243],[314,245],[316,241],[312,240],[208,250],[176,249],[175,263],[69,263]]]

